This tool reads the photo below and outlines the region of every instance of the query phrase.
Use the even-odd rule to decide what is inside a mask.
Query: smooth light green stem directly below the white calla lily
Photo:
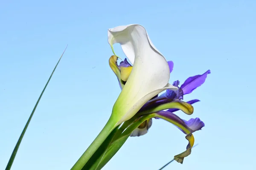
[[[89,161],[90,157],[96,152],[96,150],[101,146],[101,144],[105,141],[108,135],[115,129],[117,126],[116,121],[110,118],[99,133],[99,135],[94,139],[93,143],[87,148],[87,150],[83,153],[83,155],[79,158],[79,160],[74,164],[71,170],[81,170],[84,165]]]

